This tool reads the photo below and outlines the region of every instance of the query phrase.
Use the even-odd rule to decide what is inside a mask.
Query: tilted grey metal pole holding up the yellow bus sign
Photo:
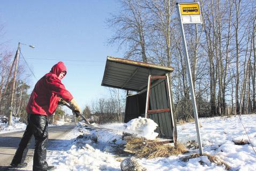
[[[190,68],[190,62],[189,62],[189,53],[188,53],[188,49],[187,49],[187,43],[186,43],[185,33],[184,33],[184,28],[183,28],[183,23],[182,23],[180,4],[176,3],[176,6],[177,6],[177,10],[179,11],[179,18],[180,18],[180,22],[181,22],[184,53],[185,53],[185,56],[186,56],[185,61],[186,61],[186,64],[187,64],[190,94],[191,94],[191,100],[192,100],[192,104],[193,104],[193,112],[194,112],[194,117],[195,117],[195,122],[196,122],[197,141],[198,141],[198,146],[199,146],[199,152],[200,152],[200,155],[202,156],[203,155],[203,147],[202,147],[202,143],[201,143],[201,135],[200,135],[200,129],[199,129],[199,125],[198,125],[197,104],[196,104],[195,91],[194,91],[193,82],[192,82],[192,74],[191,74],[191,68]]]

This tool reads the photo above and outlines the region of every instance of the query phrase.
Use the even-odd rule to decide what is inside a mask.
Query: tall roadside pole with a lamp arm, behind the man
[[[24,44],[24,43],[20,43],[18,44],[18,49],[16,51],[14,60],[13,60],[13,64],[15,63],[15,68],[14,68],[14,75],[13,75],[13,82],[12,82],[12,94],[11,94],[11,103],[10,103],[10,113],[9,113],[9,121],[8,121],[8,126],[12,125],[12,112],[13,112],[13,99],[14,99],[14,90],[15,90],[15,82],[16,82],[16,75],[17,75],[17,69],[18,69],[18,64],[19,64],[19,57],[20,57],[20,44]],[[27,44],[24,44],[27,45]],[[33,45],[28,45],[30,48],[35,48],[35,46]],[[12,69],[11,69],[12,70]],[[12,72],[12,71],[10,71]]]

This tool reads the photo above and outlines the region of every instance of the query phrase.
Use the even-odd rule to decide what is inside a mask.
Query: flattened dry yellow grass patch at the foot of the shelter
[[[134,154],[137,158],[168,157],[188,152],[183,144],[172,146],[168,144],[157,144],[157,141],[150,141],[141,137],[125,137],[126,146],[124,151]]]

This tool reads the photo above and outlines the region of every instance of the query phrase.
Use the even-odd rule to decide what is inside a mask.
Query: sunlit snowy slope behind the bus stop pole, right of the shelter
[[[239,116],[230,118],[204,118],[200,119],[201,139],[204,152],[216,154],[226,161],[233,170],[255,170],[256,154],[250,144],[235,145],[232,141],[249,141],[243,125],[256,150],[256,115],[242,115],[242,122]],[[243,125],[242,125],[243,123]],[[195,123],[187,123],[177,127],[178,139],[182,143],[191,140],[197,141]],[[192,159],[191,159],[192,160]],[[193,159],[198,160],[198,159]],[[195,166],[196,162],[192,163]],[[192,167],[190,166],[190,167]],[[201,166],[200,166],[201,167]],[[212,166],[205,166],[211,168]]]

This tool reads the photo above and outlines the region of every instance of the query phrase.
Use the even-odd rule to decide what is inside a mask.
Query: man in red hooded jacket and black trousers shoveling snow
[[[21,138],[19,147],[15,152],[11,166],[27,166],[24,161],[30,139],[32,135],[34,135],[35,152],[33,170],[46,171],[55,168],[54,166],[48,166],[46,162],[46,145],[48,142],[48,122],[46,117],[55,112],[60,98],[69,103],[76,116],[81,113],[81,109],[73,96],[66,90],[64,84],[61,83],[61,79],[63,79],[66,74],[66,66],[63,62],[59,62],[51,68],[48,74],[45,74],[37,81],[26,108],[28,113],[28,125]]]

